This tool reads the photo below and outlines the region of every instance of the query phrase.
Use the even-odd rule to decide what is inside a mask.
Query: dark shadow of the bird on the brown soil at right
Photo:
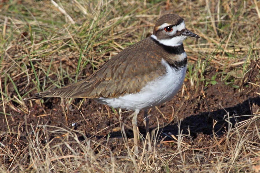
[[[260,106],[260,97],[248,98],[242,103],[238,103],[235,106],[218,109],[213,112],[201,112],[200,114],[191,115],[181,121],[180,130],[182,134],[189,134],[196,138],[198,133],[211,135],[214,132],[217,135],[222,135],[228,129],[229,123],[232,123],[232,127],[236,123],[249,119],[254,112],[255,106]],[[228,116],[229,114],[229,116]],[[217,121],[213,129],[213,122]],[[164,127],[164,133],[172,133],[178,135],[179,127],[178,123],[172,123]]]

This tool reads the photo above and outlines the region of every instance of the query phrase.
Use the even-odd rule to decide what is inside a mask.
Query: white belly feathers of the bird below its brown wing
[[[139,93],[122,95],[118,98],[100,97],[95,100],[113,108],[140,110],[152,108],[172,99],[183,84],[187,66],[176,70],[170,67],[165,60],[162,60],[162,64],[167,69],[166,74],[148,82]]]

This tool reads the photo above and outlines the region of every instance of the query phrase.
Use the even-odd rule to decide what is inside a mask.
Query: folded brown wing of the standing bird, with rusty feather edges
[[[166,70],[161,57],[151,52],[149,38],[122,50],[87,79],[59,89],[43,91],[26,100],[43,97],[98,98],[137,93]],[[148,52],[150,50],[150,52]]]

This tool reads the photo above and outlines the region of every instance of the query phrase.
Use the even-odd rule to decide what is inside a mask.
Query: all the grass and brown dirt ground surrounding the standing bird
[[[260,172],[259,9],[255,0],[0,0],[0,172]],[[143,111],[134,155],[131,112],[23,100],[86,78],[168,13],[200,39],[184,41],[179,93],[148,112],[151,151]]]

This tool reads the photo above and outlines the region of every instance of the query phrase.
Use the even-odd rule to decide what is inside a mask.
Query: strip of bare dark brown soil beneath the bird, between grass
[[[164,138],[166,134],[170,133],[178,135],[179,129],[177,121],[181,120],[180,129],[183,130],[182,134],[189,134],[187,130],[189,128],[193,143],[200,145],[200,147],[208,147],[209,143],[205,141],[209,141],[213,131],[216,135],[221,136],[226,129],[228,129],[228,123],[225,121],[228,118],[228,114],[230,122],[234,126],[236,122],[250,118],[250,116],[242,115],[252,115],[259,108],[260,97],[256,94],[256,92],[260,93],[259,88],[245,83],[245,81],[252,83],[257,82],[256,76],[259,75],[259,69],[257,69],[254,62],[252,62],[251,67],[252,69],[246,74],[244,79],[235,78],[235,82],[240,86],[240,89],[235,89],[221,82],[221,73],[217,75],[216,82],[218,83],[215,85],[209,84],[205,86],[205,82],[200,82],[198,84],[199,87],[194,89],[195,87],[191,87],[190,82],[186,81],[183,97],[181,96],[182,91],[179,91],[174,99],[158,106],[166,119],[156,108],[150,110],[149,115],[154,115],[150,116],[150,130],[157,127],[157,118],[160,124],[167,123],[170,120],[173,111],[171,106],[173,106],[174,111],[177,112],[179,109],[179,112],[177,112],[177,116],[174,120],[162,129],[161,132],[163,133],[160,133],[161,136],[159,139]],[[216,73],[216,69],[209,69],[203,75],[205,79],[211,79]],[[27,88],[25,92],[29,90],[30,88]],[[185,99],[185,97],[187,99]],[[81,99],[74,99],[72,101],[73,104],[69,107],[62,107],[62,101],[68,101],[68,99],[44,99],[44,107],[40,107],[39,105],[41,104],[38,104],[39,102],[32,101],[33,108],[31,108],[29,101],[27,101],[26,104],[28,104],[30,110],[29,114],[22,111],[16,112],[11,109],[10,106],[6,106],[6,112],[12,114],[12,117],[8,116],[10,129],[14,132],[19,131],[20,134],[19,139],[17,139],[17,133],[12,133],[12,136],[1,136],[0,141],[4,144],[16,142],[16,147],[22,151],[27,145],[28,137],[32,133],[32,127],[36,127],[36,125],[50,125],[81,131],[84,135],[78,133],[79,140],[84,140],[86,136],[96,141],[105,141],[107,136],[110,135],[109,138],[112,141],[111,150],[119,151],[122,149],[122,134],[120,129],[116,128],[120,127],[118,111],[115,114],[111,108],[97,104],[90,99],[85,99],[81,106]],[[181,103],[183,101],[185,102],[182,105]],[[80,108],[78,110],[77,107],[79,106]],[[3,111],[1,110],[1,112]],[[122,121],[130,114],[131,112],[122,113]],[[241,117],[234,118],[234,115]],[[66,116],[68,120],[66,120]],[[2,119],[0,130],[6,131],[7,133],[8,129],[4,114],[0,114],[0,119]],[[139,131],[145,134],[143,111],[140,112],[138,120]],[[213,128],[214,121],[217,121],[217,123]],[[77,123],[77,125],[73,127],[73,123]],[[126,124],[131,127],[131,120],[127,121]],[[26,129],[28,129],[28,131]],[[49,129],[51,129],[51,127],[49,127]],[[125,130],[127,137],[133,138],[131,129],[126,128]],[[40,136],[43,135],[41,133],[42,131],[39,132]],[[49,133],[49,140],[54,137],[52,133]],[[31,138],[33,138],[33,136],[31,136]],[[42,138],[43,141],[44,139],[45,138]],[[166,137],[164,139],[164,141],[167,140],[172,140],[172,138]],[[187,141],[190,141],[190,139],[187,139]],[[169,143],[163,145],[166,146],[166,150],[162,152],[167,153],[167,148],[170,149],[173,147],[174,149],[174,146]]]

